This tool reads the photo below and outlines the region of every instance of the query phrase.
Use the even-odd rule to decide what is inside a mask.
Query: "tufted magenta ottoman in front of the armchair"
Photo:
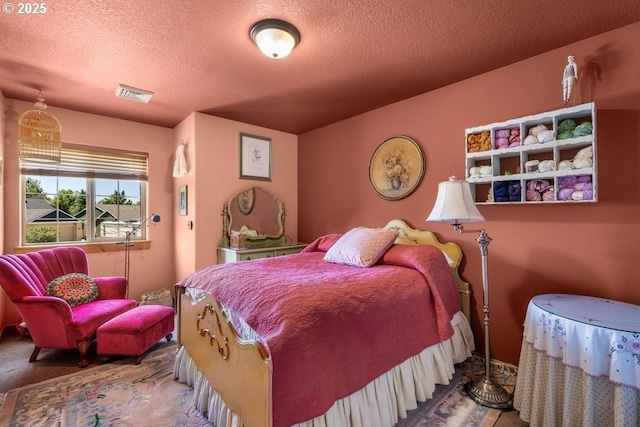
[[[110,355],[135,356],[142,361],[144,352],[162,337],[173,336],[175,310],[164,305],[141,305],[102,324],[97,332],[98,355],[106,361]]]

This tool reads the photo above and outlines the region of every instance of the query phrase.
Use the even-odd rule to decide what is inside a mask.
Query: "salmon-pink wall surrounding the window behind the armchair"
[[[2,243],[4,244],[3,253],[13,253],[20,244],[20,209],[17,203],[17,200],[20,200],[17,120],[20,114],[33,108],[33,103],[5,99],[4,104],[5,160],[1,188],[4,200],[12,202],[5,203],[2,210],[4,233]],[[149,213],[160,215],[162,220],[158,224],[149,226],[148,238],[152,241],[151,249],[131,251],[130,295],[138,299],[147,290],[172,287],[174,284],[172,280],[174,277],[173,227],[171,226],[174,212],[171,178],[173,130],[52,106],[49,106],[47,111],[60,120],[64,141],[149,153]],[[89,254],[89,265],[92,275],[95,276],[123,275],[124,252]],[[4,292],[2,294],[4,297]],[[9,313],[11,318],[3,319],[3,313]],[[6,300],[4,305],[0,305],[0,320],[2,325],[15,323],[16,320],[13,307]]]

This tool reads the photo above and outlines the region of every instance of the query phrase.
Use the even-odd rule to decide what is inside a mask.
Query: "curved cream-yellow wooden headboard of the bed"
[[[462,312],[467,319],[471,319],[471,290],[469,283],[460,278],[458,268],[462,262],[462,250],[458,245],[452,242],[442,243],[438,238],[430,231],[418,230],[409,227],[409,225],[401,219],[393,219],[389,221],[383,228],[387,230],[395,230],[398,232],[398,237],[395,240],[396,244],[401,245],[433,245],[439,248],[447,257],[449,268],[451,268],[451,274],[458,287],[458,294],[460,295],[460,306]]]

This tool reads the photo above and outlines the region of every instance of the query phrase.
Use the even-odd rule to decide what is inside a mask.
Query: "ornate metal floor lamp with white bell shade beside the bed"
[[[465,230],[462,223],[484,221],[476,208],[471,187],[455,176],[438,184],[438,196],[427,221],[448,222],[460,233],[479,233],[476,241],[482,255],[482,297],[484,304],[484,375],[465,384],[465,391],[476,403],[495,409],[508,409],[512,405],[511,395],[491,379],[491,356],[489,354],[489,279],[487,255],[491,238],[482,230]]]

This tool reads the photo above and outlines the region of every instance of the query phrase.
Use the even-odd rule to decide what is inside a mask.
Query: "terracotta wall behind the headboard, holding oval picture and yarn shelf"
[[[562,71],[572,54],[580,66],[578,103],[595,101],[597,108],[600,200],[479,207],[487,220],[481,226],[493,239],[492,357],[517,364],[526,306],[536,294],[577,293],[640,304],[634,286],[640,258],[639,39],[636,23],[300,135],[300,239],[403,218],[458,243],[466,257],[462,274],[473,288],[471,321],[482,351],[475,235],[459,235],[449,225],[426,223],[425,218],[438,183],[450,175],[465,176],[465,129],[562,108]],[[414,194],[392,202],[371,188],[368,163],[378,144],[395,134],[422,146],[427,170]]]

